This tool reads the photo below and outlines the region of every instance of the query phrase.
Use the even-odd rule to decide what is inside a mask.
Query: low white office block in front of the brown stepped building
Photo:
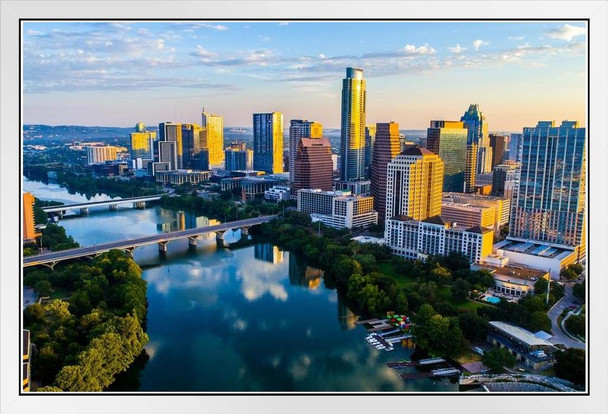
[[[378,224],[374,198],[352,195],[350,191],[300,190],[298,211],[310,214],[313,221],[338,229]]]

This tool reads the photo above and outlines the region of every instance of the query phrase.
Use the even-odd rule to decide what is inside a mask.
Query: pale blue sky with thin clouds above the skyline
[[[490,131],[585,125],[584,22],[23,22],[23,123],[252,126],[252,114],[340,127],[347,67],[367,124],[425,129],[477,103]]]

